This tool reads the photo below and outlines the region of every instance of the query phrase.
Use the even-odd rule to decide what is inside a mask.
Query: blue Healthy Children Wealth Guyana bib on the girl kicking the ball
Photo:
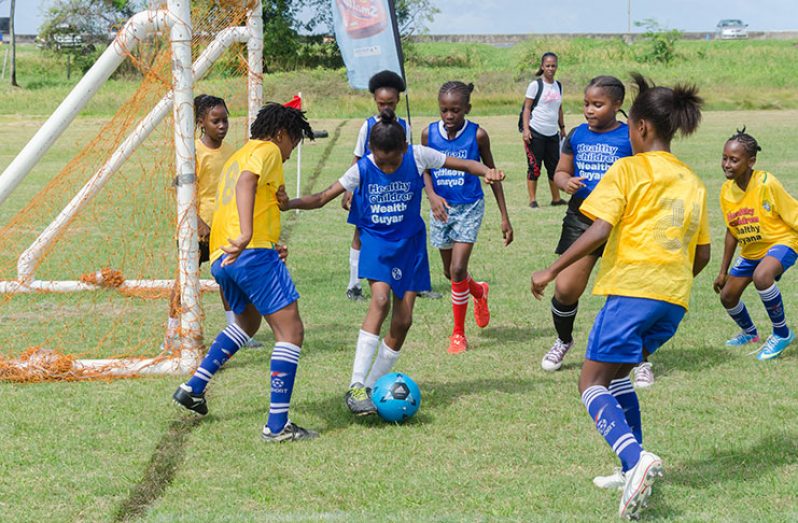
[[[360,185],[352,195],[358,228],[385,240],[400,240],[425,230],[421,218],[424,180],[409,147],[399,168],[385,174],[368,158],[357,162]]]

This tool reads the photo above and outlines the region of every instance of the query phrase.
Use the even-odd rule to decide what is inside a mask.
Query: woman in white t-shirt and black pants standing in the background
[[[560,161],[560,137],[565,135],[562,116],[562,84],[554,80],[557,73],[557,55],[543,53],[540,67],[526,89],[524,110],[521,113],[524,149],[529,163],[527,190],[529,206],[538,207],[537,185],[541,165],[546,167],[551,190],[551,205],[566,205],[560,190],[554,184],[554,172]]]

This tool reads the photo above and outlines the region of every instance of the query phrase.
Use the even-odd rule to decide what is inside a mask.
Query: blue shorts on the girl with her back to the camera
[[[593,322],[585,358],[605,363],[640,363],[676,333],[685,309],[648,298],[608,296]]]

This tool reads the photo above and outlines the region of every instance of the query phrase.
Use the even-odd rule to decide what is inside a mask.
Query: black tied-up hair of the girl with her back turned
[[[677,84],[673,88],[655,86],[639,73],[632,73],[637,85],[637,96],[629,109],[632,120],[646,120],[654,126],[657,135],[671,141],[676,132],[687,136],[701,123],[704,100],[698,96],[695,85]]]

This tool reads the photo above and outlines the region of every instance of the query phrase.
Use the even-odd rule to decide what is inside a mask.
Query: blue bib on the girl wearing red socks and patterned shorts
[[[429,124],[427,145],[446,156],[478,162],[480,160],[479,144],[477,144],[478,129],[479,125],[466,121],[458,136],[454,140],[449,140],[441,132],[440,122],[434,122]],[[446,168],[431,169],[430,173],[435,194],[450,204],[474,203],[484,198],[482,184],[477,176]]]

